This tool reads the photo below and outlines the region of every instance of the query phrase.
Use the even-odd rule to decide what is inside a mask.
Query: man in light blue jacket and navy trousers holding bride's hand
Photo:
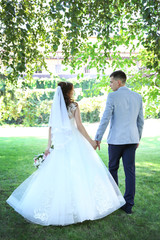
[[[95,140],[100,142],[110,121],[107,138],[109,171],[118,184],[118,168],[122,157],[125,172],[126,204],[122,207],[127,214],[132,213],[135,196],[135,151],[139,145],[144,124],[142,97],[126,86],[126,74],[115,71],[110,75],[110,87],[106,107],[96,133]]]

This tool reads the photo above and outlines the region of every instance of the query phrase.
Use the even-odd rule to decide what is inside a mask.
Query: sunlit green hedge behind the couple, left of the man
[[[0,124],[24,126],[48,124],[57,81],[60,79],[33,79],[30,83],[23,83],[20,80],[17,86],[1,81]],[[91,82],[93,83],[93,80]],[[80,87],[82,85],[83,88]],[[94,89],[87,87],[91,87],[88,80],[83,84],[76,84],[75,90],[78,94],[75,100],[79,103],[82,120],[96,122],[100,120],[100,106],[104,99],[103,96],[89,97],[94,95]]]

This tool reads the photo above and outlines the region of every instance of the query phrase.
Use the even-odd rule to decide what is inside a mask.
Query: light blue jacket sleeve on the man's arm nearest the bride
[[[113,99],[112,99],[112,93],[109,93],[107,102],[106,102],[106,107],[95,136],[95,140],[101,141],[103,134],[111,119],[112,113],[113,113]]]

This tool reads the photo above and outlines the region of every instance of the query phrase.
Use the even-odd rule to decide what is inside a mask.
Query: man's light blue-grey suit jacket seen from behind
[[[127,87],[109,93],[95,140],[101,141],[110,121],[108,144],[136,144],[144,124],[142,97]]]

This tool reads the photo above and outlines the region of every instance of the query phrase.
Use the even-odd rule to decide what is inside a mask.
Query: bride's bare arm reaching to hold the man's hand
[[[90,136],[88,135],[86,129],[84,128],[82,121],[81,121],[81,115],[80,115],[80,110],[79,107],[77,106],[75,110],[75,120],[77,124],[78,130],[81,132],[81,134],[88,140],[88,142],[92,145],[94,149],[97,147],[96,141],[92,140]]]

